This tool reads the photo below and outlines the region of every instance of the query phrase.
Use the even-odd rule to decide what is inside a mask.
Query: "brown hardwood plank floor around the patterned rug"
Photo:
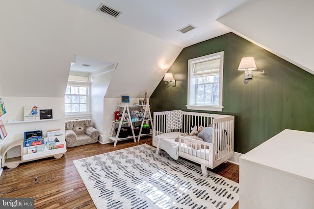
[[[67,148],[67,153],[60,159],[46,158],[22,163],[13,169],[4,168],[0,177],[0,197],[34,198],[36,209],[95,209],[72,161],[143,143],[152,145],[152,138],[136,143],[119,141],[116,147],[112,143],[94,143]],[[211,171],[239,182],[239,166],[233,163],[223,163]],[[238,203],[233,209],[237,208]]]

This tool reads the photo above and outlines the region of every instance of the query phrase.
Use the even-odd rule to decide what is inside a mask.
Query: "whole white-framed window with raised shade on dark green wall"
[[[187,109],[222,111],[223,55],[188,60]]]

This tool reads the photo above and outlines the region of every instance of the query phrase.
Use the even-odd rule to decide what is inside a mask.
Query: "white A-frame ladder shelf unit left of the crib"
[[[144,118],[145,118],[146,114],[148,114],[148,119],[131,121],[130,109],[131,110],[136,110],[138,108],[141,108],[141,109],[144,110],[144,113],[143,113]],[[141,137],[152,134],[152,132],[150,132],[149,134],[142,134],[144,123],[149,124],[149,122],[151,122],[150,128],[151,128],[151,130],[153,130],[153,120],[152,120],[152,115],[151,115],[151,110],[150,110],[149,105],[128,105],[128,104],[118,105],[117,111],[122,112],[122,115],[121,115],[120,122],[113,121],[113,124],[112,124],[112,128],[111,128],[109,139],[114,141],[113,146],[117,145],[117,141],[118,140],[125,140],[125,139],[132,139],[133,138],[134,142],[136,142],[136,137],[137,137],[137,141],[139,141]],[[130,118],[130,128],[131,128],[132,135],[129,135],[128,137],[125,137],[125,138],[119,138],[117,136],[120,136],[119,134],[120,134],[120,131],[121,131],[121,128],[122,128],[122,125],[123,125],[123,119],[124,119],[125,113],[128,113],[128,116]],[[135,136],[135,133],[134,133],[134,124],[135,123],[141,123],[138,136]],[[118,131],[116,133],[116,136],[113,136],[114,133],[115,133],[116,126],[118,126]]]

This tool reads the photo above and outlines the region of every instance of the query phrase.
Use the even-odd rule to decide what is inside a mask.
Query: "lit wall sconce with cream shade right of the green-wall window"
[[[243,57],[241,59],[240,65],[237,68],[237,70],[245,70],[243,83],[247,84],[249,82],[248,79],[252,79],[252,74],[264,73],[264,70],[252,71],[252,70],[256,70],[256,69],[257,68],[256,68],[254,57]]]

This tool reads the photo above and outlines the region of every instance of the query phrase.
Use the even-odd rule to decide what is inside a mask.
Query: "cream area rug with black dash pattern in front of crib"
[[[98,209],[231,209],[238,184],[143,144],[73,161]]]

